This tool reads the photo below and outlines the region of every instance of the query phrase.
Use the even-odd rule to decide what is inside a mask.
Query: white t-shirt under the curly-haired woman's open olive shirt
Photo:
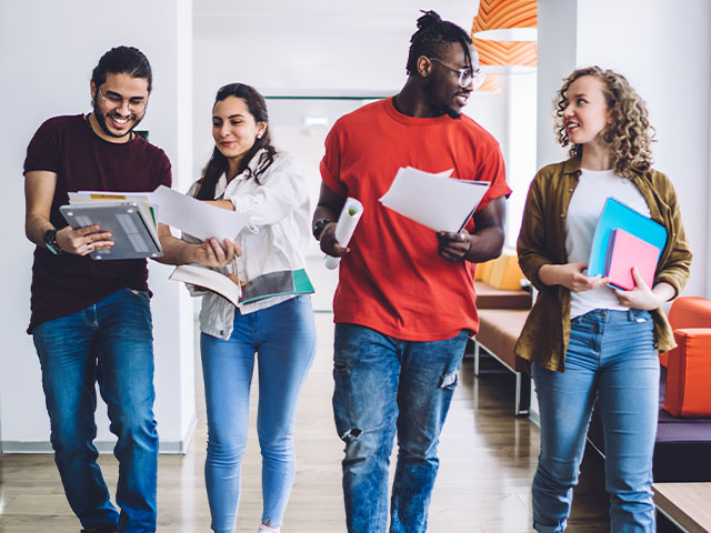
[[[590,259],[592,237],[609,197],[615,198],[635,211],[649,217],[649,205],[640,190],[630,180],[612,170],[580,169],[578,187],[570,199],[565,219],[565,251],[571,263],[587,263]],[[571,292],[570,316],[574,319],[595,309],[627,311],[614,291],[602,286],[594,291]]]

